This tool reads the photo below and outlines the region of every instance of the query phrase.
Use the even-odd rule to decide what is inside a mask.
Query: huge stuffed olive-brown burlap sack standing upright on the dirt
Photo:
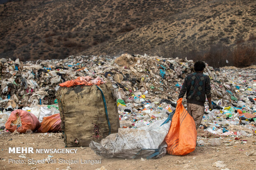
[[[106,99],[111,133],[117,133],[120,123],[112,84],[101,84],[98,87]],[[91,140],[100,142],[109,135],[102,93],[96,85],[60,87],[57,100],[66,147],[88,147]]]

